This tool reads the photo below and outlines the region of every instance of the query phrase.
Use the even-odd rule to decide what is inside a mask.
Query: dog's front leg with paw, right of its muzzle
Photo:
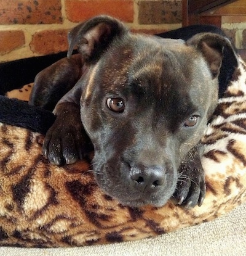
[[[189,151],[179,168],[177,189],[173,194],[177,204],[186,208],[202,205],[205,198],[205,174],[201,157],[204,146],[199,142]]]

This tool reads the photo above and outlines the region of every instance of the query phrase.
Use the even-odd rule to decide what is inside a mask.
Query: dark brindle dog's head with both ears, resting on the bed
[[[211,33],[187,42],[134,35],[108,16],[74,28],[69,44],[68,56],[77,45],[90,64],[79,81],[81,119],[97,183],[122,204],[164,205],[216,107],[231,44]]]

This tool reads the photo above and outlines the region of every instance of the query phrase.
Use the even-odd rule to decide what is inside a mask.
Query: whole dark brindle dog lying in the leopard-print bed
[[[133,34],[106,15],[77,25],[68,41],[68,58],[36,76],[30,98],[55,105],[44,156],[71,164],[93,146],[98,186],[122,205],[202,205],[200,139],[217,105],[223,49],[236,56],[230,41]]]

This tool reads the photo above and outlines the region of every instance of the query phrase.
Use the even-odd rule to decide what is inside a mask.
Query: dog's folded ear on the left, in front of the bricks
[[[85,60],[98,60],[116,36],[127,33],[122,22],[107,15],[100,15],[74,27],[68,33],[68,58],[74,47]]]

